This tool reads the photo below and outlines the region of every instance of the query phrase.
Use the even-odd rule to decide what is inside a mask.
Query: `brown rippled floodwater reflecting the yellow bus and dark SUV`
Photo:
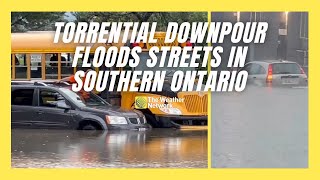
[[[207,168],[207,131],[12,130],[13,168]]]

